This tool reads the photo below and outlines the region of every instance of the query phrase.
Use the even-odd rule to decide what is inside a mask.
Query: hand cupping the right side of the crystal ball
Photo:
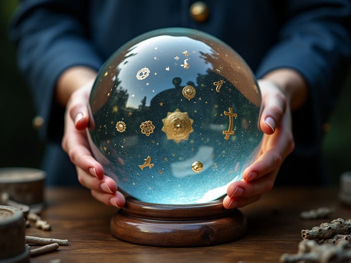
[[[295,144],[286,94],[270,80],[258,80],[262,95],[259,126],[263,134],[256,160],[243,172],[243,179],[229,185],[223,206],[243,207],[260,199],[273,188],[279,168]]]

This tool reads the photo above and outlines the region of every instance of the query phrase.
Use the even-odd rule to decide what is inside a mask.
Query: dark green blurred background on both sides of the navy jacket
[[[40,168],[44,143],[39,141],[37,132],[32,128],[35,111],[31,94],[26,88],[24,76],[18,72],[14,46],[7,35],[8,19],[15,5],[15,0],[0,1],[0,167]],[[328,169],[335,184],[342,172],[351,170],[350,99],[351,74],[343,87],[324,143]]]

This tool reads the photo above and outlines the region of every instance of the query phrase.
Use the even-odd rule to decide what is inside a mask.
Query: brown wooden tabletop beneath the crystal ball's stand
[[[111,216],[117,211],[95,201],[86,189],[48,188],[47,208],[41,214],[52,231],[34,227],[27,236],[68,239],[53,253],[31,258],[32,263],[275,263],[283,253],[297,253],[302,229],[322,222],[351,217],[351,207],[338,200],[338,189],[278,188],[261,200],[241,208],[248,232],[240,240],[201,248],[159,248],[129,244],[110,234]],[[327,206],[335,209],[327,219],[302,220],[300,212]]]

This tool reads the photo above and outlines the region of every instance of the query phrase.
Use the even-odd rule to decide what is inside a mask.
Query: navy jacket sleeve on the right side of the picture
[[[305,132],[314,127],[311,136],[320,140],[350,68],[351,1],[290,0],[281,17],[279,40],[262,60],[257,77],[277,68],[298,71],[310,88],[305,115],[299,117],[305,119]]]

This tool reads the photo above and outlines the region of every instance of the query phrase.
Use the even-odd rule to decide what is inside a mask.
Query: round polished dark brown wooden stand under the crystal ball
[[[112,235],[129,243],[157,247],[204,247],[228,243],[246,233],[246,218],[218,199],[195,205],[145,203],[132,197],[112,216]]]

